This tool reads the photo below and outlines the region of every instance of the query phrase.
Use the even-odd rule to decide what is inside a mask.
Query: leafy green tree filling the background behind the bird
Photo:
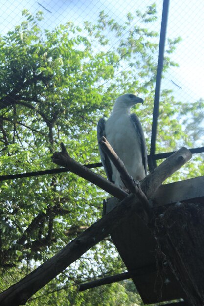
[[[101,12],[96,25],[85,22],[79,28],[69,22],[44,32],[38,26],[40,12],[32,16],[25,10],[23,16],[21,25],[0,38],[2,175],[53,168],[50,157],[61,141],[77,161],[98,162],[97,120],[108,116],[115,96],[124,92],[145,96],[138,115],[150,134],[158,33],[149,30],[149,23],[157,18],[155,5],[136,16],[128,14],[125,24]],[[169,41],[167,53],[178,42]],[[171,65],[176,64],[168,55],[164,71]],[[181,142],[190,145],[194,136],[186,135],[175,119],[180,112],[176,106],[181,103],[171,92],[163,91],[161,105],[157,149],[173,151]],[[187,111],[191,108],[183,112],[184,119]],[[2,290],[91,225],[101,215],[102,198],[107,197],[70,173],[4,181],[0,188]],[[59,301],[59,292],[63,292],[60,298],[67,303],[64,292],[71,290],[70,305],[89,305],[94,297],[91,292],[77,295],[77,284],[123,269],[112,242],[104,240],[38,296],[43,294],[41,304],[43,299],[48,305],[56,294]],[[100,290],[110,305],[116,305],[116,299],[130,305],[125,291],[113,295],[116,287],[120,285],[97,289],[98,300],[90,305],[101,305]],[[46,294],[52,291],[50,298]],[[36,301],[29,304],[38,305]]]

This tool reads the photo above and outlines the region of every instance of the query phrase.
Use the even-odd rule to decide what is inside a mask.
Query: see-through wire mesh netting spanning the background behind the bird
[[[54,168],[50,157],[61,141],[77,161],[99,163],[97,121],[108,118],[115,97],[129,91],[145,99],[136,112],[150,152],[163,1],[1,4],[0,175]],[[156,153],[204,145],[203,12],[202,1],[170,1]],[[101,168],[94,171],[104,175]],[[203,174],[201,155],[179,179],[189,174]],[[10,178],[0,185],[1,290],[90,226],[100,217],[101,199],[107,196],[70,173]],[[76,286],[124,269],[112,241],[104,240],[27,305],[48,305],[61,291],[66,292],[60,297],[62,305],[63,298],[68,298],[66,305],[102,305],[91,293],[77,294]],[[140,305],[129,281],[117,286],[99,288],[95,294],[99,300],[107,294],[109,301],[110,292],[126,288],[130,294],[124,305]],[[110,305],[122,299],[125,292],[115,293]]]

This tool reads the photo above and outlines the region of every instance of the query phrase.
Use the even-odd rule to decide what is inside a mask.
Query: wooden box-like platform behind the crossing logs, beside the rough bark
[[[150,201],[154,206],[161,206],[204,200],[203,186],[204,176],[162,185]],[[116,198],[108,199],[104,203],[104,214],[118,203]],[[185,299],[167,263],[159,261],[157,243],[151,231],[136,214],[112,231],[111,238],[128,271],[134,271],[132,279],[145,304]]]

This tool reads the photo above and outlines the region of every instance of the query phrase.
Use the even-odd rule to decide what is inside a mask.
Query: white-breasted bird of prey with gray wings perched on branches
[[[113,150],[123,161],[128,173],[134,180],[141,181],[147,175],[147,149],[142,125],[131,108],[142,103],[143,99],[135,94],[126,93],[119,96],[114,103],[112,113],[107,121],[101,118],[97,124],[97,140],[102,165],[109,181],[117,187],[126,189],[120,173],[103,151],[100,140],[105,136]]]

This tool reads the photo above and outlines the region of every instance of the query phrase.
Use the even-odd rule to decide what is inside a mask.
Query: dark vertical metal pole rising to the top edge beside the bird
[[[168,10],[169,10],[169,0],[163,0],[158,66],[157,66],[157,76],[156,76],[156,85],[155,85],[155,99],[154,99],[154,109],[153,109],[153,119],[152,119],[152,137],[151,137],[150,156],[148,160],[150,171],[153,171],[153,169],[157,167],[157,163],[154,157],[155,157],[155,144],[157,137],[157,120],[159,115],[159,97],[160,97],[160,87],[161,87],[161,75],[163,70]]]

